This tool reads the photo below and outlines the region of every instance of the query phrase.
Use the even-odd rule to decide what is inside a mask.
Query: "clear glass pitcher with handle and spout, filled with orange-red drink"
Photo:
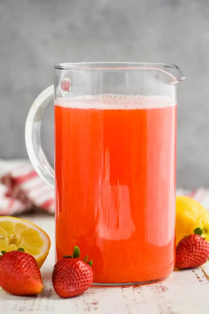
[[[79,246],[94,284],[165,279],[175,264],[176,83],[170,64],[63,63],[32,105],[29,158],[55,187],[56,260]],[[41,147],[54,98],[55,171]]]

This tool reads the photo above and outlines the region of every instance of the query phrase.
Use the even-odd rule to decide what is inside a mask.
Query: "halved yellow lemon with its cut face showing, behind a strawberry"
[[[24,248],[26,253],[35,257],[41,268],[50,246],[49,236],[37,225],[20,218],[0,216],[0,251]]]

